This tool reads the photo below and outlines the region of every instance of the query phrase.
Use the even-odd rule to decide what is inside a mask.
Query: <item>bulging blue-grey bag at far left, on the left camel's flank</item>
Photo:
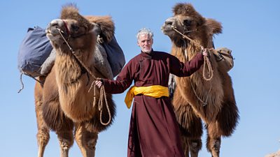
[[[41,65],[50,55],[52,45],[41,27],[29,28],[18,52],[20,73],[37,77],[41,75]]]

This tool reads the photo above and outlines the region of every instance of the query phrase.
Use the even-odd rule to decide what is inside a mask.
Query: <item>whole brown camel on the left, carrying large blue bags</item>
[[[99,100],[99,89],[89,91],[95,77],[104,77],[93,62],[97,30],[104,42],[109,42],[115,30],[111,17],[83,17],[74,5],[64,6],[60,19],[52,20],[46,29],[57,54],[48,76],[39,77],[44,83],[35,85],[38,157],[43,157],[50,130],[59,139],[60,156],[68,156],[75,139],[83,156],[93,157],[98,133],[115,117],[111,95],[106,95],[108,105],[104,102],[102,107],[94,104],[94,96]]]

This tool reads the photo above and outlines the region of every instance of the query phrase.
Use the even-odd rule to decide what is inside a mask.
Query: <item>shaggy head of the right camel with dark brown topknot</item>
[[[203,47],[211,47],[214,34],[222,31],[221,23],[202,17],[190,3],[177,3],[173,13],[174,16],[169,17],[162,25],[162,32],[178,47],[188,47],[190,41],[183,39],[183,36],[174,29],[197,41]]]

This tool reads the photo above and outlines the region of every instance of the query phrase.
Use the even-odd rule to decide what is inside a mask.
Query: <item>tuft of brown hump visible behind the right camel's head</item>
[[[222,24],[214,19],[205,19],[204,26],[207,27],[207,32],[209,36],[214,36],[214,34],[222,33]]]

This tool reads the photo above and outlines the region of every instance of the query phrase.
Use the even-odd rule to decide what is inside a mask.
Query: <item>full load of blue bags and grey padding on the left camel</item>
[[[113,36],[109,43],[97,43],[95,50],[97,55],[94,55],[93,59],[94,66],[97,69],[104,69],[102,70],[103,75],[113,79],[125,66],[123,50],[118,45],[115,36]],[[20,91],[24,88],[22,82],[23,74],[38,81],[36,77],[48,75],[54,63],[55,50],[52,49],[45,29],[41,27],[29,28],[18,52],[18,69],[21,73],[20,82],[22,84]]]

